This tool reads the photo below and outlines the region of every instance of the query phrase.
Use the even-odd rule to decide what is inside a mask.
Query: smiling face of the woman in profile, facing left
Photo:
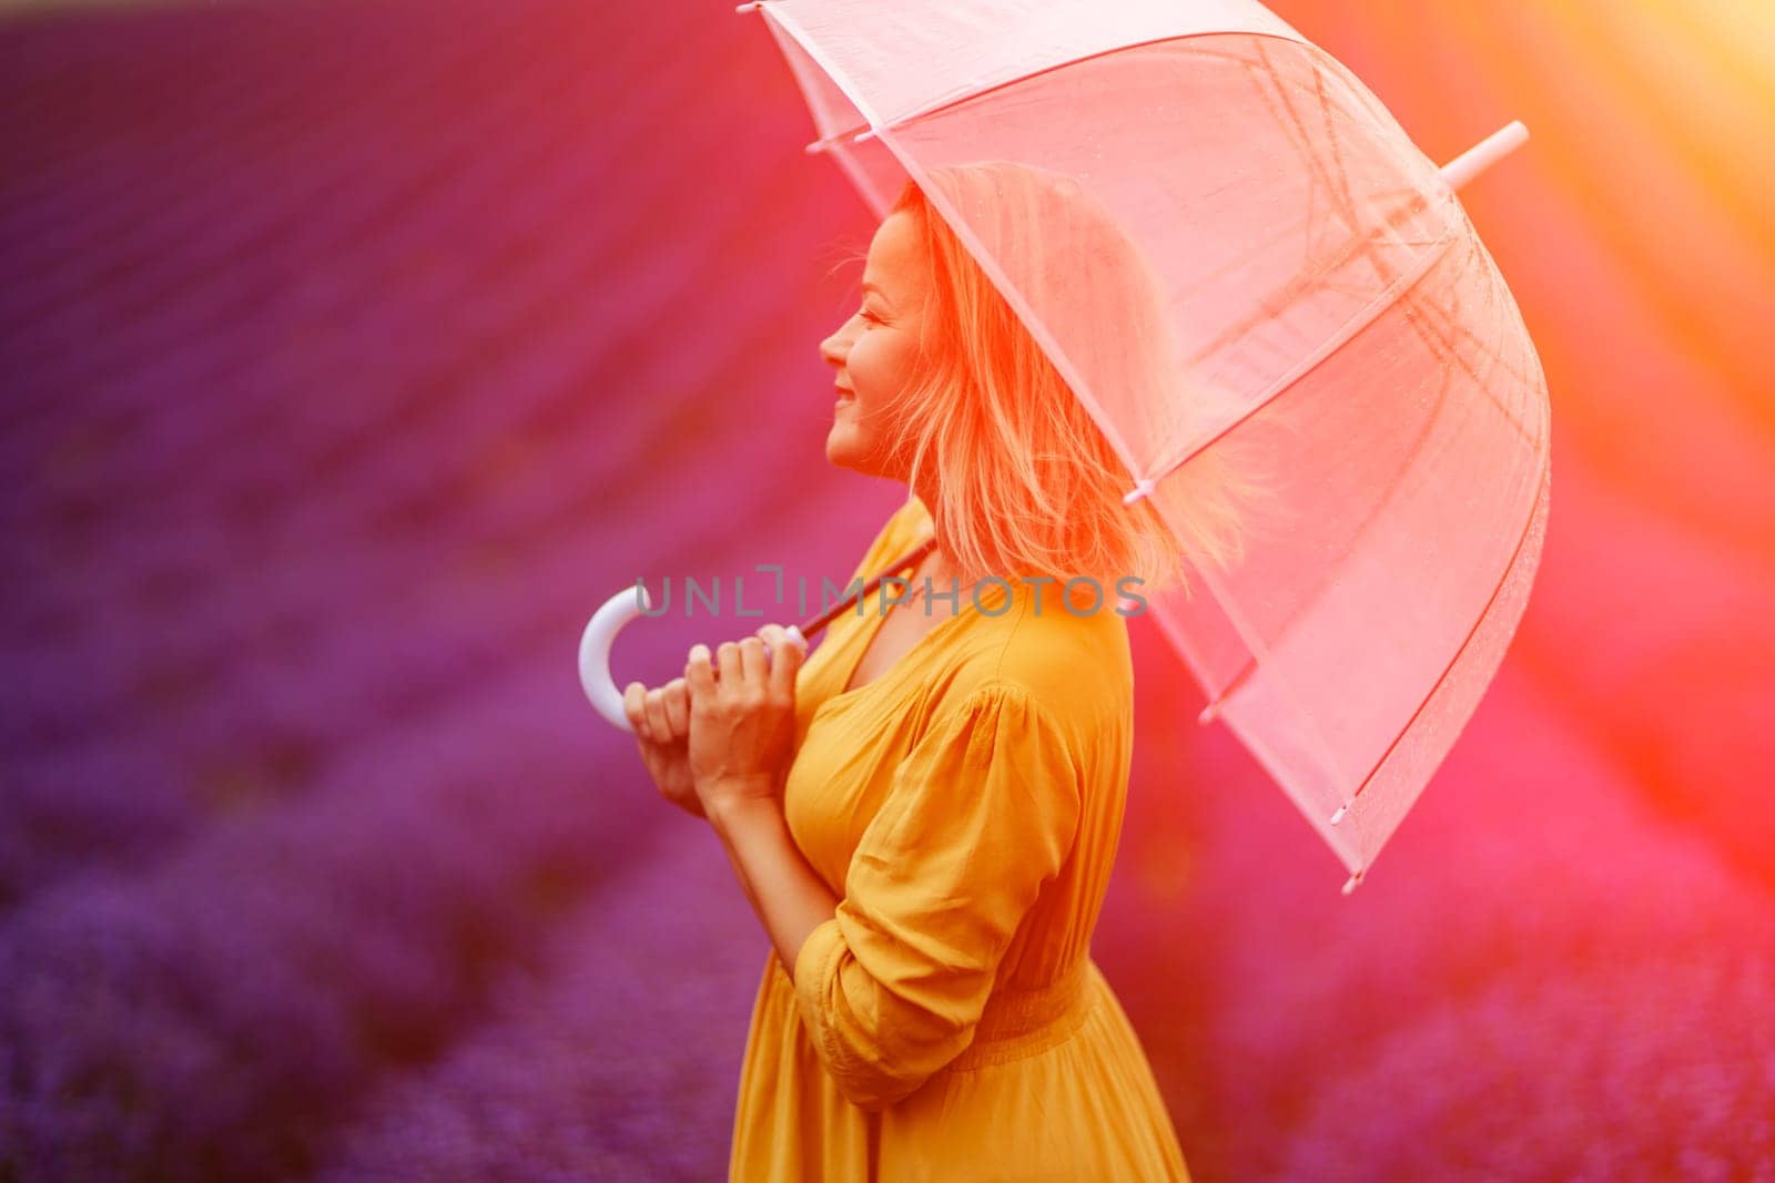
[[[888,456],[888,401],[912,380],[930,271],[907,211],[875,231],[863,268],[859,309],[820,342],[838,378],[825,458],[864,475],[903,477]]]

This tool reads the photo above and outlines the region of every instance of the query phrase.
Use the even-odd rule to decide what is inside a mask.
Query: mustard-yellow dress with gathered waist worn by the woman
[[[911,497],[856,575],[928,532]],[[882,621],[872,598],[802,665],[783,809],[841,903],[793,981],[765,958],[731,1179],[1187,1179],[1090,960],[1134,676],[1115,601],[1086,614],[1077,596],[1069,612],[1053,584],[962,591],[953,617],[843,692]]]

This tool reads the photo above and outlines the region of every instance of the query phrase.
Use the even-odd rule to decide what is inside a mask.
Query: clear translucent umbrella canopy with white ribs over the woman
[[[1196,543],[1148,608],[1200,718],[1354,887],[1491,683],[1541,557],[1546,380],[1456,197],[1516,140],[1438,168],[1250,0],[740,11],[808,99],[809,151],[877,216],[907,177],[925,190],[1127,465],[1127,500]]]

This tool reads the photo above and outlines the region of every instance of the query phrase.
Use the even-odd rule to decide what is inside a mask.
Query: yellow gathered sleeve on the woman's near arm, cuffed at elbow
[[[974,1038],[999,960],[1079,827],[1065,738],[1021,686],[935,717],[895,770],[836,915],[795,956],[795,1000],[845,1098],[879,1110]]]

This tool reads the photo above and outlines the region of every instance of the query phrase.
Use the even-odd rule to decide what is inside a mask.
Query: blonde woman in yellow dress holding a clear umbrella
[[[996,243],[1021,257],[1070,220],[1044,275],[1102,286],[1079,227],[1120,239],[1063,181],[973,165],[930,183],[976,236],[1024,234]],[[774,944],[731,1178],[1186,1179],[1090,960],[1132,752],[1118,591],[1173,576],[1180,536],[1122,504],[1127,468],[916,184],[820,351],[827,459],[909,486],[856,575],[932,532],[935,550],[903,603],[841,614],[806,663],[770,624],[625,690],[660,791],[721,835]],[[1221,553],[1223,507],[1198,509],[1182,537]]]

